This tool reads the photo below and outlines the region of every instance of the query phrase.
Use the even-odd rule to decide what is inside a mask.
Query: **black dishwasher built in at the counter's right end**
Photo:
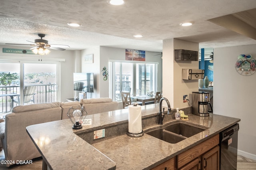
[[[220,170],[236,170],[239,124],[220,132]]]

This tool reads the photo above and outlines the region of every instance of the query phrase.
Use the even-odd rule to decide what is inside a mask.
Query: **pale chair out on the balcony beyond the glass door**
[[[25,103],[35,103],[35,91],[36,86],[25,86],[24,87],[24,104]],[[12,102],[20,105],[20,98],[12,99]]]

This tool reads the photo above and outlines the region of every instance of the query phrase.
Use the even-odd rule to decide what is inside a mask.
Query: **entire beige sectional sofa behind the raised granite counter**
[[[80,102],[52,102],[21,105],[13,108],[0,123],[0,138],[5,160],[31,160],[40,157],[36,146],[28,136],[26,127],[39,123],[68,119],[72,106],[83,105],[88,115],[118,109],[118,103],[109,98],[83,99]],[[6,166],[10,166],[7,164]]]

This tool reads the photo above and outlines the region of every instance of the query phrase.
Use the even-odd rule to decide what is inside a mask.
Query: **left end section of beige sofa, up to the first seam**
[[[0,123],[0,137],[5,160],[32,160],[40,157],[36,146],[28,136],[26,127],[61,119],[59,102],[16,106]],[[10,166],[12,164],[7,164]]]

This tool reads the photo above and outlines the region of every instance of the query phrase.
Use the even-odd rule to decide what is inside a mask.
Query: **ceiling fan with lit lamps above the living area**
[[[48,44],[48,41],[47,40],[43,40],[43,37],[45,37],[45,34],[38,34],[38,36],[41,38],[41,39],[36,39],[34,42],[31,42],[31,43],[34,43],[34,44],[22,44],[22,43],[5,43],[5,44],[9,44],[9,45],[32,45],[34,47],[30,48],[30,49],[36,49],[36,48],[42,48],[42,49],[47,49],[47,48],[50,48],[50,49],[56,49],[56,50],[60,50],[60,51],[64,51],[66,49],[64,48],[60,48],[60,47],[52,47],[52,45],[61,45],[61,44]],[[27,42],[30,42],[27,40]],[[65,45],[67,47],[70,47],[68,45]]]

